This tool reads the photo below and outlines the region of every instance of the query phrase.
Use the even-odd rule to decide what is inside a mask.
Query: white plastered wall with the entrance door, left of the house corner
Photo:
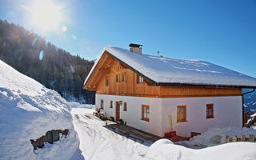
[[[115,96],[106,94],[96,94],[97,108],[101,106],[101,99],[104,101],[104,110],[106,116],[116,118],[116,103],[122,101],[120,106],[120,118],[128,126],[133,126],[139,130],[144,130],[151,134],[161,135],[162,134],[162,106],[161,99],[159,98],[141,98],[131,96]],[[113,101],[113,108],[110,108],[110,101]],[[127,111],[123,110],[123,104],[127,102]],[[143,121],[142,118],[142,105],[150,106],[150,121]]]

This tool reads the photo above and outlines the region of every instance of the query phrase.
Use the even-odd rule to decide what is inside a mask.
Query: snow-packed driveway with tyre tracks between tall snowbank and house
[[[94,109],[72,108],[74,129],[80,139],[80,150],[87,160],[142,159],[148,144],[141,144],[104,127],[105,122],[90,118]]]

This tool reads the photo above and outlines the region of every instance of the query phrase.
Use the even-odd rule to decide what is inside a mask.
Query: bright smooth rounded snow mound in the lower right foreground
[[[241,160],[256,159],[256,143],[231,142],[220,146],[213,146],[201,150],[189,149],[184,146],[174,145],[167,139],[160,139],[150,146],[146,154],[149,160]]]

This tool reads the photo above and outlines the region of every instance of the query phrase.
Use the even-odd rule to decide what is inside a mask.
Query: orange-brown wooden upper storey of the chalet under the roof
[[[94,90],[96,94],[151,98],[242,96],[241,88],[157,86],[107,51],[102,54],[84,88]]]

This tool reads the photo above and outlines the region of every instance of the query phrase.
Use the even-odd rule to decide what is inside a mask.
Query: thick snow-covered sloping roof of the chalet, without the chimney
[[[135,54],[117,46],[106,46],[102,54],[105,51],[156,85],[256,88],[256,78],[210,62]],[[85,84],[102,54],[90,70]]]

